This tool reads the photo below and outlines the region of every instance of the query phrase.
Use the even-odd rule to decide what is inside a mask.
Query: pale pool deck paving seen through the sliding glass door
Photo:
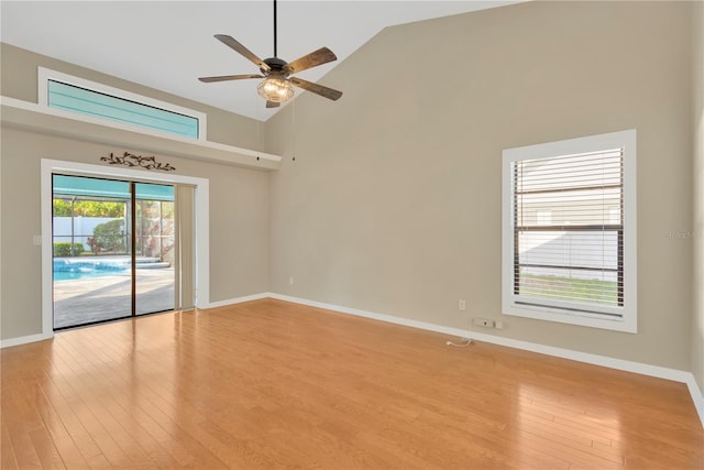
[[[174,269],[136,270],[136,314],[174,308]],[[54,328],[131,315],[129,274],[54,282]]]

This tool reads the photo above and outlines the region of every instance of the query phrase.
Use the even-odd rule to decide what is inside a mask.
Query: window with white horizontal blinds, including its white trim
[[[505,313],[635,328],[634,153],[635,131],[504,151]]]

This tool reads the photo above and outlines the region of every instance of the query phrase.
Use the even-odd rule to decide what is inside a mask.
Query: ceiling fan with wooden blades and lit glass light
[[[283,61],[276,56],[276,0],[274,0],[274,57],[265,58],[262,61],[250,50],[248,50],[238,41],[235,41],[231,36],[228,36],[227,34],[216,34],[215,37],[228,47],[240,53],[242,56],[254,63],[257,67],[260,67],[261,75],[246,74],[222,75],[218,77],[200,77],[198,78],[200,81],[212,83],[242,80],[248,78],[264,78],[264,80],[262,80],[256,89],[260,96],[266,100],[267,108],[276,108],[282,102],[293,98],[294,88],[292,87],[292,85],[311,91],[316,95],[320,95],[333,101],[338,100],[342,96],[342,91],[338,91],[332,88],[315,84],[312,81],[304,80],[302,78],[292,77],[292,75],[298,72],[307,70],[308,68],[317,67],[319,65],[337,61],[338,57],[328,47],[320,47],[319,50],[304,55],[302,57],[299,57],[290,63]]]

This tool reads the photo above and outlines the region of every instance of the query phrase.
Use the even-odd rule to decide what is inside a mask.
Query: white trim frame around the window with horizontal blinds
[[[514,233],[513,181],[510,163],[519,160],[597,152],[607,149],[624,150],[624,307],[623,317],[607,318],[598,314],[579,313],[556,307],[518,304],[513,291]],[[636,236],[636,130],[612,132],[586,138],[548,142],[503,152],[502,206],[502,306],[504,315],[540,320],[603,328],[635,334],[637,317],[637,236]]]

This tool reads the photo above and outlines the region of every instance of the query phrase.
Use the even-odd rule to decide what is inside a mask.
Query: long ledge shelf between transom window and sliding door
[[[3,127],[263,171],[278,170],[280,165],[279,155],[166,133],[138,131],[111,121],[98,123],[80,114],[4,96],[0,97],[0,105]]]

